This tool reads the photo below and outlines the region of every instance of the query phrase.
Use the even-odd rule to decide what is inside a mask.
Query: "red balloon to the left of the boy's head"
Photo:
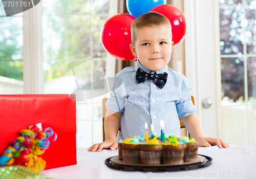
[[[133,60],[130,44],[131,25],[135,17],[120,13],[110,17],[102,26],[101,41],[106,51],[120,60]]]

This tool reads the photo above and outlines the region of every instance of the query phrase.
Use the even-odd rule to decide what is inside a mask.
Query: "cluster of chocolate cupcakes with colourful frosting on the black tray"
[[[120,140],[119,160],[127,164],[183,164],[197,159],[198,145],[194,138],[169,136],[134,136]]]

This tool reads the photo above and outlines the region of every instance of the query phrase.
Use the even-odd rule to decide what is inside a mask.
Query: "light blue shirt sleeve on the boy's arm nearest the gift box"
[[[125,87],[123,80],[118,76],[115,77],[112,91],[110,93],[110,98],[106,101],[106,108],[122,113],[125,106]]]

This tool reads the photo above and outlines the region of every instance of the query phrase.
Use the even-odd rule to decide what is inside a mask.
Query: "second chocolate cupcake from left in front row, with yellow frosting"
[[[162,145],[157,138],[148,141],[148,144],[140,145],[141,164],[161,164]]]

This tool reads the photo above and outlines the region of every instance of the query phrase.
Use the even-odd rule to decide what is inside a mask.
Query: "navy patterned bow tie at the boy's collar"
[[[157,74],[156,72],[146,73],[144,70],[138,68],[136,71],[136,83],[139,84],[146,81],[147,79],[151,79],[158,87],[162,89],[167,81],[167,75],[168,74],[166,72],[161,74]]]

